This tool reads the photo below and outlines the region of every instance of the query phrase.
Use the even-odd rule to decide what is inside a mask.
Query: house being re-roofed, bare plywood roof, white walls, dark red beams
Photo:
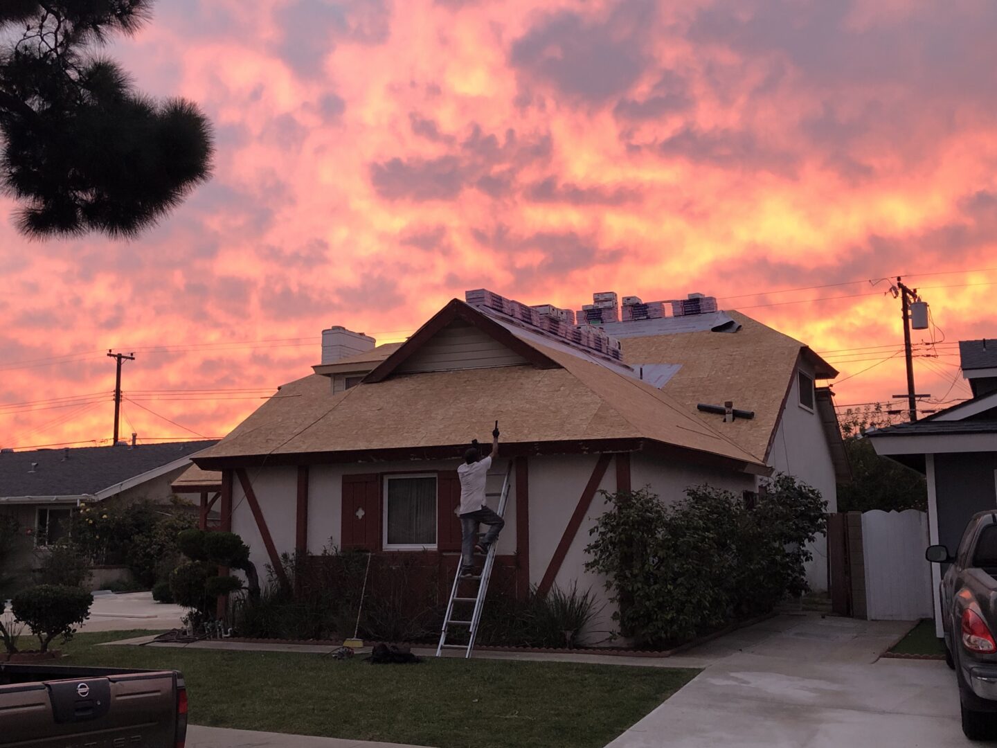
[[[704,483],[756,492],[786,463],[823,482],[833,511],[840,437],[827,424],[830,393],[814,380],[835,372],[798,341],[733,313],[607,334],[487,291],[468,297],[400,344],[325,331],[367,349],[326,356],[194,458],[220,472],[203,488],[220,488],[220,525],[257,565],[331,543],[426,550],[449,576],[460,550],[458,461],[496,420],[499,463],[511,465],[497,568],[517,594],[575,580],[604,594],[584,570],[600,490],[650,486],[668,501]],[[627,334],[637,327],[646,334]],[[816,575],[820,583],[826,571]],[[609,628],[610,612],[595,628]]]

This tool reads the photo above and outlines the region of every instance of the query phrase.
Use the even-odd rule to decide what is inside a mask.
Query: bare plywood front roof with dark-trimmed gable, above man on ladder
[[[474,324],[532,365],[392,376],[455,320]],[[425,455],[430,449],[450,450],[454,457],[498,419],[506,445],[650,440],[767,471],[730,437],[627,367],[541,339],[539,331],[501,324],[455,299],[361,384],[337,394],[320,375],[285,385],[196,463],[212,469],[291,456],[364,460],[373,453],[384,458],[389,451]]]

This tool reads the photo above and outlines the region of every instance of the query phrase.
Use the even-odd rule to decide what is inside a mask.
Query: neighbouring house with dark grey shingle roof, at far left
[[[31,567],[37,548],[66,537],[73,509],[104,500],[166,503],[170,482],[190,455],[214,441],[119,444],[0,452],[0,514],[24,531],[15,568]],[[30,533],[30,536],[29,536]]]

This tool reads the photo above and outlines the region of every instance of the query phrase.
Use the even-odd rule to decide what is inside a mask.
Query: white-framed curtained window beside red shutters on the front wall
[[[385,476],[384,547],[435,549],[435,475]]]

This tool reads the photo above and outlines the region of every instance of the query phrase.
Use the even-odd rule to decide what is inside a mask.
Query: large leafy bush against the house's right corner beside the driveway
[[[755,508],[709,486],[671,506],[648,489],[607,494],[585,566],[606,576],[620,632],[663,646],[806,591],[825,502],[792,476],[765,482],[761,494]]]

